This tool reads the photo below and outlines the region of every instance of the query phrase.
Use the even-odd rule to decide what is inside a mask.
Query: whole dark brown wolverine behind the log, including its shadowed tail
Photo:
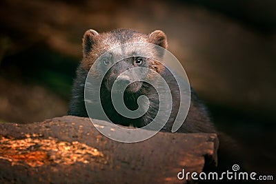
[[[139,43],[139,46],[132,43]],[[151,46],[144,47],[144,44],[148,43]],[[152,47],[152,45],[157,47]],[[177,77],[181,77],[172,74],[171,70],[164,65],[164,50],[168,48],[164,32],[155,30],[150,34],[143,34],[130,29],[117,29],[98,33],[95,30],[87,30],[83,35],[82,46],[83,59],[77,68],[77,77],[72,87],[69,115],[88,117],[88,114],[91,113],[88,113],[86,103],[89,103],[92,111],[90,118],[106,120],[101,116],[102,113],[97,109],[98,105],[93,99],[94,96],[97,96],[95,94],[99,93],[100,102],[97,101],[97,103],[101,103],[104,114],[108,116],[110,123],[124,126],[146,127],[146,125],[152,124],[152,120],[158,116],[160,109],[163,108],[161,114],[168,113],[166,112],[167,107],[163,106],[170,106],[168,119],[161,119],[161,121],[166,121],[161,131],[171,132],[177,114],[182,113],[179,112],[182,91],[176,80]],[[155,74],[139,72],[140,69],[149,69]],[[103,71],[106,72],[103,74]],[[161,90],[164,91],[163,94],[171,94],[170,98],[165,97],[160,100],[157,92],[159,88],[157,74],[168,84],[168,89],[164,90],[164,86],[161,86]],[[103,78],[99,79],[101,75]],[[86,85],[90,87],[86,89]],[[184,95],[190,95],[188,114],[177,132],[218,134],[219,164],[216,168],[205,168],[206,170],[225,172],[233,164],[242,165],[240,151],[235,142],[226,134],[216,130],[206,106],[198,99],[193,88],[188,88],[190,93],[184,92]],[[116,108],[112,101],[112,95],[118,96],[118,94],[123,96],[119,101],[123,101],[128,110],[141,110],[141,116],[130,118],[120,114],[117,111],[118,107]],[[86,96],[90,97],[86,98]],[[147,99],[141,100],[141,96],[146,96]],[[118,100],[115,98],[115,101],[116,99]],[[121,104],[121,106],[124,105]]]

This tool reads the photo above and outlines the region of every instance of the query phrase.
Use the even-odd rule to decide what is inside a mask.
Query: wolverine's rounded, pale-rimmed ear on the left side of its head
[[[95,39],[99,36],[99,33],[95,30],[87,30],[82,39],[83,54],[86,55],[92,49],[92,45],[95,43]]]

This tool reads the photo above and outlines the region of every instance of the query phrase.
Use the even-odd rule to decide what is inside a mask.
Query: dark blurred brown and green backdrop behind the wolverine
[[[89,28],[163,30],[244,165],[275,174],[276,1],[0,2],[0,122],[66,114]]]

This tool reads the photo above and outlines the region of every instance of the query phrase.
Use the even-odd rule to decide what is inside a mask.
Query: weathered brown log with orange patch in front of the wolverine
[[[217,147],[216,134],[170,132],[119,143],[76,116],[0,123],[0,183],[185,183],[177,174],[215,167]]]

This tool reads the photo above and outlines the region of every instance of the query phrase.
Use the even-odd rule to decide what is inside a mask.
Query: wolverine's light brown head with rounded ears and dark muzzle
[[[92,74],[97,78],[97,74],[104,72],[103,85],[108,91],[119,92],[125,88],[125,92],[135,93],[141,89],[143,81],[153,79],[152,72],[142,70],[143,68],[163,72],[164,65],[161,61],[164,50],[159,48],[167,48],[166,34],[161,30],[150,34],[129,29],[101,34],[87,30],[83,35],[81,65],[87,70],[93,64],[97,65]]]

